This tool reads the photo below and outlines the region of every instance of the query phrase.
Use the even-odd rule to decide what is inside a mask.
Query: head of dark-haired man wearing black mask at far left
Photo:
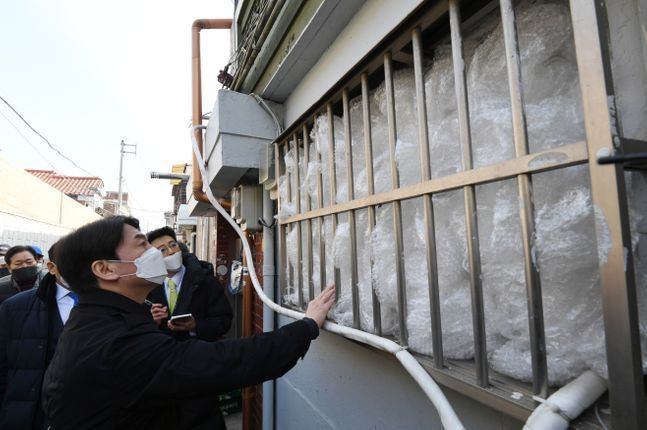
[[[40,281],[36,251],[31,246],[13,246],[5,254],[9,275],[0,279],[0,303]]]

